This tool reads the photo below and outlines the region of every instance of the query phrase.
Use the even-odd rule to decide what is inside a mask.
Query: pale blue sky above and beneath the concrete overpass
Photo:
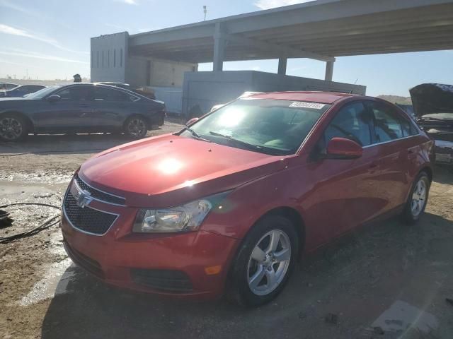
[[[89,78],[90,37],[158,30],[306,2],[301,0],[0,0],[0,78]],[[368,95],[408,96],[420,83],[453,83],[453,51],[338,57],[333,81]],[[226,62],[224,70],[277,72],[277,60]],[[200,64],[200,71],[212,64]],[[325,63],[289,59],[287,74],[323,79]]]

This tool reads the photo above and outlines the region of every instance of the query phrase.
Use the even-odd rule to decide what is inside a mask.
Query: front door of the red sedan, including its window
[[[352,160],[321,159],[309,165],[316,186],[311,193],[311,215],[326,225],[325,238],[347,232],[382,210],[377,150],[372,144],[372,117],[360,101],[343,106],[323,133],[321,153],[334,137],[349,138],[364,147]]]

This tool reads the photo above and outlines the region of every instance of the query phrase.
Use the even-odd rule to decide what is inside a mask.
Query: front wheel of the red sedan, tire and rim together
[[[269,215],[257,222],[233,263],[230,299],[247,307],[270,302],[285,287],[298,253],[298,236],[290,220]]]

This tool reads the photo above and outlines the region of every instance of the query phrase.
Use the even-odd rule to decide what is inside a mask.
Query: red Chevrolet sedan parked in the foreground
[[[260,93],[193,120],[81,165],[62,208],[75,263],[119,287],[257,306],[304,251],[425,209],[433,141],[384,100]]]

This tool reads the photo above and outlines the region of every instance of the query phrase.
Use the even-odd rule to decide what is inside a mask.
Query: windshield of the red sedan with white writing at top
[[[330,106],[316,102],[242,99],[217,109],[180,135],[262,153],[289,155],[296,153]]]

